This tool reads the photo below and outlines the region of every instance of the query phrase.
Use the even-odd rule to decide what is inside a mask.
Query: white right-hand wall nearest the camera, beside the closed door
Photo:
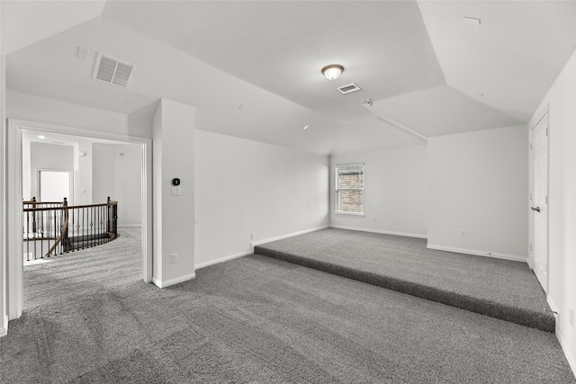
[[[549,302],[558,311],[556,335],[576,372],[576,52],[546,94],[528,127],[549,106]]]

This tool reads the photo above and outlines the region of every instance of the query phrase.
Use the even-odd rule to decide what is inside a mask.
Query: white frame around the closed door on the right
[[[550,104],[547,103],[545,107],[542,109],[540,113],[538,113],[538,118],[528,126],[528,169],[529,169],[529,183],[528,183],[528,206],[527,210],[530,210],[532,206],[532,193],[534,192],[534,166],[532,164],[532,129],[535,129],[536,126],[542,121],[542,119],[546,118],[548,120],[547,129],[548,132],[546,134],[546,156],[547,161],[547,169],[546,169],[546,197],[548,198],[547,209],[546,209],[546,222],[548,225],[546,226],[546,281],[545,286],[542,288],[545,290],[546,295],[548,295],[548,289],[550,286]],[[534,221],[534,214],[532,212],[528,215],[528,266],[534,272],[535,268],[535,255],[534,255],[534,238],[535,236],[535,221]],[[542,282],[536,279],[540,284]]]

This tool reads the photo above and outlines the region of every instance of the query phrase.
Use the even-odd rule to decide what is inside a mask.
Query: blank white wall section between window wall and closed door
[[[429,138],[428,247],[527,260],[527,191],[525,126]]]

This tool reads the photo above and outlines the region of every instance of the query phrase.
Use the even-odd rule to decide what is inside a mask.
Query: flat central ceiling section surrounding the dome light
[[[444,85],[416,2],[109,2],[109,18],[338,122],[356,106]],[[327,81],[320,69],[341,64]],[[355,94],[338,86],[356,83]]]

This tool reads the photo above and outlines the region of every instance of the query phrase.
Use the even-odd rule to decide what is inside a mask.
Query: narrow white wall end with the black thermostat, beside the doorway
[[[154,266],[160,287],[194,276],[195,108],[162,99],[153,121]],[[171,180],[179,178],[180,194]],[[178,262],[172,263],[172,255]]]

